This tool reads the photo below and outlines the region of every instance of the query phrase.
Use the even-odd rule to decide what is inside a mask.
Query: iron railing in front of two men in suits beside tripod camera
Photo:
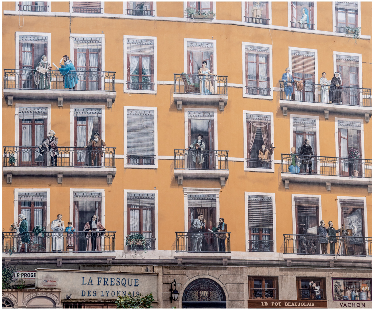
[[[319,235],[283,234],[285,254],[372,256],[371,237],[330,236],[327,253],[323,253]]]

